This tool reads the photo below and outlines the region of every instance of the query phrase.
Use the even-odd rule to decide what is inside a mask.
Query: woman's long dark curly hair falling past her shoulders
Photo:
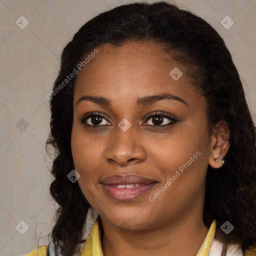
[[[50,133],[46,141],[54,148],[50,193],[59,207],[51,238],[61,255],[77,252],[85,216],[90,206],[78,182],[67,174],[74,169],[71,154],[73,89],[77,64],[105,43],[152,41],[186,65],[193,85],[207,100],[208,127],[224,120],[230,129],[230,147],[219,169],[208,165],[203,220],[216,219],[216,234],[225,243],[236,242],[243,251],[256,241],[256,148],[255,126],[248,109],[239,74],[219,34],[202,18],[173,4],[130,3],[102,12],[74,34],[61,54],[61,65],[50,96]],[[63,83],[65,81],[66,83]],[[60,84],[62,83],[62,86]],[[225,234],[228,220],[234,229]],[[55,252],[57,254],[57,252]]]

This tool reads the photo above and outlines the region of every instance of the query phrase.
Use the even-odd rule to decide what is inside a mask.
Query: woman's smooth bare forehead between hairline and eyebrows
[[[166,91],[187,98],[195,93],[185,66],[160,45],[127,42],[121,46],[104,44],[97,49],[98,53],[77,74],[74,100],[83,94],[135,101],[145,94]],[[171,76],[172,70],[178,72],[177,80]]]

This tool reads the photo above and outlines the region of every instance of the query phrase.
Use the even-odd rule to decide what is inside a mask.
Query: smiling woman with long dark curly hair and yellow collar
[[[163,1],[103,12],[49,98],[59,208],[27,255],[256,255],[255,128],[206,21]]]

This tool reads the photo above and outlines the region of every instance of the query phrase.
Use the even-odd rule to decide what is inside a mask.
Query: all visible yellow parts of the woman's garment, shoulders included
[[[208,255],[211,242],[214,238],[215,229],[216,221],[213,220],[196,256]],[[93,255],[103,256],[101,248],[101,226],[99,218],[95,221],[80,254],[80,256]],[[32,250],[30,253],[25,254],[23,256],[46,256],[46,246],[40,246],[37,250]],[[250,250],[247,250],[244,253],[244,256],[256,256],[256,248],[251,248]]]

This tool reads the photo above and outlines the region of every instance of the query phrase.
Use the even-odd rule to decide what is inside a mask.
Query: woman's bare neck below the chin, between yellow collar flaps
[[[104,256],[161,255],[196,256],[208,228],[201,215],[187,214],[146,230],[123,230],[101,218]]]

